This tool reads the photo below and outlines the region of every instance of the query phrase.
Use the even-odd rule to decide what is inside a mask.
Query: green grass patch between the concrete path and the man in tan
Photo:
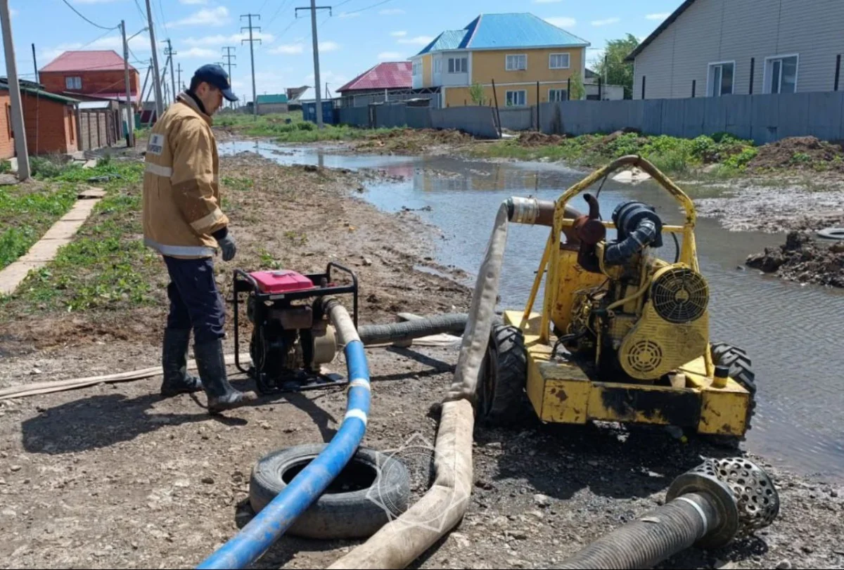
[[[14,296],[0,303],[18,304],[23,312],[73,312],[154,302],[150,276],[160,270],[160,261],[140,239],[143,163],[111,161],[84,171],[63,169],[55,180],[73,184],[101,175],[119,178],[98,184],[106,197],[76,239],[47,266],[30,272]]]

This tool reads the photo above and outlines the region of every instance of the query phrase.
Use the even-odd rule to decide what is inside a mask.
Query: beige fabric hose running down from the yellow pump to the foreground
[[[466,513],[473,481],[475,386],[495,319],[506,238],[507,208],[502,204],[475,283],[454,381],[442,405],[436,433],[433,487],[402,516],[329,568],[406,567],[452,530]]]

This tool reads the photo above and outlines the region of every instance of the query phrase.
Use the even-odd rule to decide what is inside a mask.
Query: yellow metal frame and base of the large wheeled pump
[[[560,239],[563,229],[574,220],[564,218],[565,207],[572,198],[611,175],[615,170],[637,167],[651,175],[660,186],[679,202],[685,211],[681,226],[663,226],[663,231],[682,234],[679,262],[699,270],[695,245],[695,205],[679,186],[656,166],[640,156],[630,155],[615,160],[571,186],[555,202],[554,225],[545,245],[542,261],[533,281],[530,298],[522,312],[505,311],[505,321],[516,325],[525,336],[527,348],[527,395],[540,419],[546,422],[585,423],[588,420],[676,424],[693,421],[699,433],[743,435],[747,429],[750,394],[733,379],[715,378],[715,366],[709,350],[679,368],[684,375],[682,385],[656,386],[597,382],[572,363],[551,361],[550,323],[552,310],[560,293]],[[603,222],[608,229],[614,223]],[[533,313],[539,288],[545,276],[543,310]],[[619,401],[622,403],[619,404]],[[694,419],[690,420],[692,413]],[[688,425],[688,424],[687,424]]]

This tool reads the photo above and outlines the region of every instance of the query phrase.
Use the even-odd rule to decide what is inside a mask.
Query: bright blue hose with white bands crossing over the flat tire
[[[353,329],[354,330],[354,329]],[[245,568],[268,551],[291,524],[303,514],[328,485],[343,471],[357,451],[366,432],[370,408],[370,373],[364,345],[348,341],[345,347],[349,372],[349,402],[346,416],[326,449],[293,481],[262,508],[237,535],[197,568]]]

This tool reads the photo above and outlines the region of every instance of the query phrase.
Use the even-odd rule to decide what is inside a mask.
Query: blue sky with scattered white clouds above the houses
[[[241,45],[246,19],[260,13],[262,45],[255,45],[257,93],[283,93],[284,88],[313,84],[310,13],[294,8],[309,0],[150,0],[156,40],[170,38],[181,63],[182,80],[206,62],[223,61],[221,48],[235,46],[237,67],[232,69],[235,91],[241,100],[252,99],[249,45]],[[68,0],[95,24],[111,27],[121,19],[128,35],[147,25],[141,8],[145,0]],[[458,30],[479,13],[531,12],[588,40],[587,62],[601,56],[606,40],[630,33],[644,39],[681,0],[319,0],[333,5],[333,15],[317,16],[322,86],[337,89],[379,61],[414,55],[442,30]],[[100,30],[79,18],[62,0],[11,0],[12,27],[18,72],[34,76],[31,45],[39,67],[69,49],[114,49],[122,53],[119,30]],[[149,34],[130,41],[133,63],[142,81],[149,65]],[[164,45],[159,46],[164,66]],[[143,62],[143,63],[138,63]],[[5,73],[5,60],[0,62]],[[312,96],[312,90],[306,97]]]

